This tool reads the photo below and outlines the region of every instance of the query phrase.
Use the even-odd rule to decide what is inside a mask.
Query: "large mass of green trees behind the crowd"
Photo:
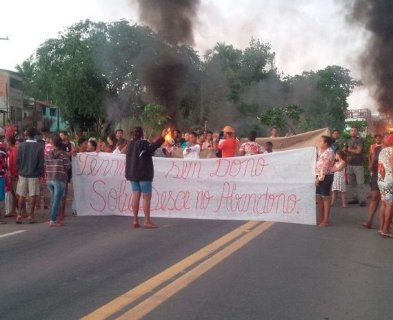
[[[233,124],[238,132],[261,129],[261,123],[293,133],[343,129],[347,97],[361,85],[350,71],[334,65],[282,78],[274,56],[269,43],[252,38],[244,50],[216,43],[201,60],[191,47],[169,45],[145,26],[86,20],[48,39],[17,70],[28,96],[56,104],[72,129],[93,129],[99,136],[124,119],[143,119],[154,134],[152,124],[161,120],[152,114],[162,116],[157,105],[182,129],[204,127],[205,121],[210,129]],[[183,69],[177,91],[163,100],[159,93],[168,91],[176,67],[165,65],[168,57]],[[149,74],[151,67],[156,72]]]

